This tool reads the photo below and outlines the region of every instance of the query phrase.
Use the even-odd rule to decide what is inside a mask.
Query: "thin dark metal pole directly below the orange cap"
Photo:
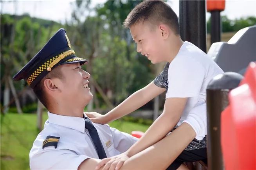
[[[211,11],[211,44],[220,41],[221,18],[220,11]]]

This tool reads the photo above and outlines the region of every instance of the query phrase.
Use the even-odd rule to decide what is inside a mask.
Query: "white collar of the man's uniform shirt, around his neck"
[[[82,117],[63,116],[50,112],[48,112],[48,117],[48,121],[52,124],[57,124],[85,133],[85,119]]]

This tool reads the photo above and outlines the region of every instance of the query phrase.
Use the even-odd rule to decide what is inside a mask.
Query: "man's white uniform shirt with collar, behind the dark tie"
[[[81,117],[56,115],[48,112],[49,119],[33,143],[29,153],[31,169],[78,169],[87,158],[97,158],[97,151]],[[137,138],[110,126],[94,124],[105,149],[111,157],[127,151]],[[47,136],[60,137],[58,146],[43,146]]]

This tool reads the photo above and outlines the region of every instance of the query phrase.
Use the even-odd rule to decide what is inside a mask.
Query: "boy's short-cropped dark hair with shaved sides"
[[[129,28],[139,22],[150,21],[153,24],[168,25],[175,34],[179,34],[178,17],[171,7],[162,0],[145,0],[128,14],[123,26]]]

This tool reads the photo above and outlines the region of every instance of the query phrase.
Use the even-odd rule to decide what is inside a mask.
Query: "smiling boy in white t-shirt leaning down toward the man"
[[[214,76],[223,73],[222,69],[197,46],[181,40],[177,15],[162,1],[141,2],[127,16],[124,27],[130,28],[137,52],[153,64],[168,63],[153,82],[106,115],[88,113],[88,117],[105,124],[133,112],[164,91],[167,91],[166,101],[163,113],[139,141],[123,154],[103,159],[97,168],[119,169],[131,156],[160,141],[171,129],[174,130],[169,136],[177,143],[165,146],[172,148],[169,169],[182,168],[183,162],[206,161],[206,88]],[[188,131],[191,133],[187,134]]]

